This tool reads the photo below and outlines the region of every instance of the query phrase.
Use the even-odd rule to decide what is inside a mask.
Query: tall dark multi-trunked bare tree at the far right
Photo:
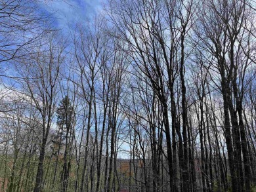
[[[254,45],[247,39],[254,31],[251,28],[250,18],[253,15],[244,1],[237,3],[208,1],[202,6],[205,11],[199,12],[197,30],[202,33],[198,33],[198,37],[202,42],[203,50],[207,50],[214,57],[212,64],[209,61],[206,63],[211,65],[215,74],[219,74],[219,83],[215,79],[213,82],[223,95],[224,134],[232,190],[244,191],[245,184],[246,191],[249,191],[250,168],[245,145],[247,140],[242,117],[242,101],[245,71],[253,63],[252,50],[245,45],[245,42]]]

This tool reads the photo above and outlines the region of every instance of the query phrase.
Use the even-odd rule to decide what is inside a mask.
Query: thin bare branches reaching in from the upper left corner
[[[47,31],[47,20],[39,1],[1,1],[0,62],[28,56],[35,41]]]

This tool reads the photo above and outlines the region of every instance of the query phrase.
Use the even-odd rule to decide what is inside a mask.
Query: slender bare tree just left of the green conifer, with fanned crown
[[[32,100],[33,106],[41,117],[38,125],[41,136],[39,136],[37,176],[33,189],[35,192],[43,189],[45,147],[56,109],[60,66],[64,62],[65,44],[59,44],[60,42],[53,37],[50,37],[49,40],[44,39],[49,43],[42,46],[37,54],[33,54],[30,62],[23,63],[23,67],[17,69],[24,79],[20,82],[24,94],[27,94],[28,98]]]

